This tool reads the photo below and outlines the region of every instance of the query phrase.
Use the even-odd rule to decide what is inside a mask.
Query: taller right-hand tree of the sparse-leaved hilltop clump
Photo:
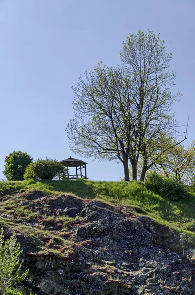
[[[139,30],[137,35],[127,37],[120,52],[123,69],[130,79],[132,103],[136,106],[138,150],[135,160],[130,161],[132,167],[137,167],[141,154],[143,166],[140,180],[144,180],[146,171],[172,148],[169,139],[177,133],[178,123],[170,112],[181,94],[170,92],[170,87],[175,85],[176,74],[169,71],[172,54],[166,53],[164,43],[160,34],[156,37],[150,30],[148,34]],[[186,139],[186,132],[183,135],[180,142]],[[137,179],[137,175],[133,174],[133,179]]]

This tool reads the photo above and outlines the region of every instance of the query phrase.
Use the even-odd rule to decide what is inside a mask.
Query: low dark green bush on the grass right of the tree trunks
[[[156,172],[148,174],[144,183],[147,189],[171,201],[187,199],[189,196],[186,186],[181,181],[158,175]]]

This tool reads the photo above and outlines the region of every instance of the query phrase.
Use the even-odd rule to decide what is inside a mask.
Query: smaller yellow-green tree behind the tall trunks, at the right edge
[[[181,143],[178,144],[175,138],[165,137],[163,141],[159,140],[159,138],[155,140],[156,144],[153,146],[150,156],[148,156],[146,175],[152,171],[156,171],[162,176],[174,178],[187,185],[192,184],[193,177],[195,176],[195,141],[192,142],[191,146],[185,148]],[[156,153],[155,147],[158,147]],[[161,153],[161,147],[164,147],[164,149],[167,148],[167,150]],[[144,157],[141,156],[137,164],[139,178],[141,178],[143,164]],[[132,178],[131,169],[129,174],[130,178]]]

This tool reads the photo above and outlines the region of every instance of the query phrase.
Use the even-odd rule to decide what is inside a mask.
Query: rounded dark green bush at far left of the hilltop
[[[24,180],[26,168],[32,160],[32,157],[27,152],[14,150],[5,157],[4,176],[7,180]]]

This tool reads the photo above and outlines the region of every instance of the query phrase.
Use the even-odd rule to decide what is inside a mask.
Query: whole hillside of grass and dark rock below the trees
[[[82,180],[1,182],[0,194],[37,295],[195,294],[194,195]]]

